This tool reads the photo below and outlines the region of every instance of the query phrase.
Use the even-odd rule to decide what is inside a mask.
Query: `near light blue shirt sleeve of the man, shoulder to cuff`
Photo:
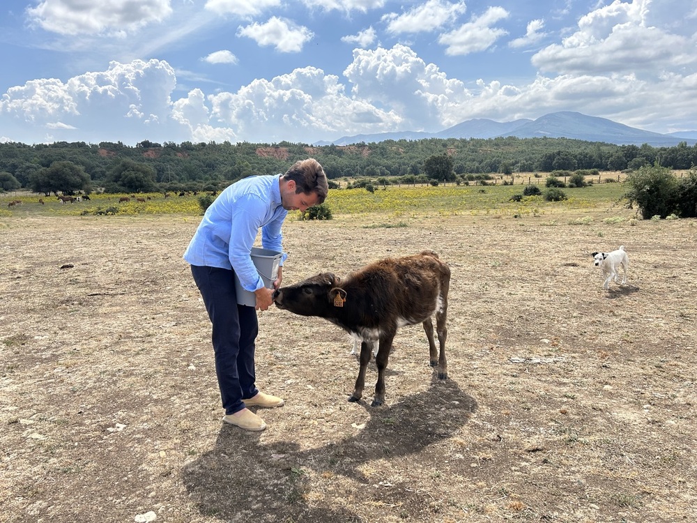
[[[252,247],[267,204],[258,195],[245,195],[236,202],[231,218],[229,258],[233,271],[247,291],[263,287],[263,280],[252,261]]]

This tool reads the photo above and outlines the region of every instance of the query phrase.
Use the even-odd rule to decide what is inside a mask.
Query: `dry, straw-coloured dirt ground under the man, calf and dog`
[[[590,214],[287,220],[286,283],[436,250],[450,379],[406,327],[348,403],[348,335],[268,310],[261,433],[220,422],[198,218],[2,218],[0,521],[694,522],[697,222]]]

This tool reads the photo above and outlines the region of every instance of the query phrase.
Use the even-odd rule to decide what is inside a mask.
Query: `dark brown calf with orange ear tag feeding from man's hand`
[[[328,319],[362,341],[360,370],[355,390],[348,398],[350,402],[357,402],[363,394],[370,351],[379,343],[375,357],[378,381],[372,402],[373,407],[378,407],[385,402],[385,369],[392,340],[401,326],[423,324],[429,339],[431,367],[438,367],[439,379],[447,379],[445,321],[449,288],[450,268],[435,252],[425,250],[419,255],[376,261],[344,280],[332,273],[321,273],[277,289],[273,300],[280,309]],[[431,320],[434,314],[439,352]]]

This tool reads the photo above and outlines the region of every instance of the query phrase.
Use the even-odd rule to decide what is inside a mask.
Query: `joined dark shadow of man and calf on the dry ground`
[[[330,506],[309,506],[305,494],[311,480],[305,471],[333,478],[328,480],[333,487],[345,483],[337,476],[351,481],[351,488],[371,485],[360,471],[362,466],[418,455],[452,437],[468,422],[477,403],[448,380],[393,406],[362,407],[370,419],[358,434],[309,450],[299,450],[293,439],[265,445],[259,433],[222,426],[215,448],[183,469],[191,499],[202,515],[222,521],[362,522],[339,496]],[[433,459],[428,457],[429,465]]]

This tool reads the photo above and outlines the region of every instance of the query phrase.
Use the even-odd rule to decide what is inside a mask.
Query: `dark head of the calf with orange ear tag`
[[[339,287],[339,278],[321,273],[296,285],[281,287],[273,293],[273,302],[302,316],[327,316],[332,308],[343,307],[346,291]]]

